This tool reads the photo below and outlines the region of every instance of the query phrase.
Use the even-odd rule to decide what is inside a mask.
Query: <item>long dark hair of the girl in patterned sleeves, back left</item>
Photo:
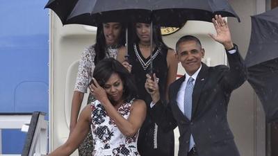
[[[122,30],[120,32],[120,38],[118,42],[118,46],[124,46],[126,43],[125,38],[125,29],[126,27],[124,24],[121,24]],[[95,64],[97,64],[100,60],[105,58],[106,55],[106,40],[104,37],[104,26],[103,24],[98,24],[97,26],[97,37],[96,37],[96,43],[95,43]]]

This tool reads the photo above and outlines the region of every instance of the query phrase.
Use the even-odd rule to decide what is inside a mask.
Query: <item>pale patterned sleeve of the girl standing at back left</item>
[[[89,82],[92,78],[92,71],[95,68],[94,64],[95,49],[94,46],[85,49],[79,60],[79,69],[76,77],[74,91],[86,93]]]

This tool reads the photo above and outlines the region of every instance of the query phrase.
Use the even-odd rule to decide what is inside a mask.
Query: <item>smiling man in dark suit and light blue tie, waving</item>
[[[201,43],[186,35],[176,45],[186,74],[170,85],[167,107],[160,100],[155,75],[153,80],[147,75],[145,87],[152,96],[154,120],[165,130],[179,127],[179,156],[239,155],[227,122],[227,107],[231,92],[245,82],[246,69],[227,22],[215,15],[213,25],[217,34],[210,35],[226,49],[229,67],[206,66]]]

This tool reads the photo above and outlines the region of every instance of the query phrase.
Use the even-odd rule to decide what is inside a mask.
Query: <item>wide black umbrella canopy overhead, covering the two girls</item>
[[[145,22],[180,27],[187,20],[211,21],[214,15],[237,17],[227,0],[49,0],[63,24]]]

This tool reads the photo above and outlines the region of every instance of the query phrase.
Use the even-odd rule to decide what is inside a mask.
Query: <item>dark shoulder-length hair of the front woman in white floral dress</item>
[[[131,73],[114,58],[106,58],[99,61],[94,69],[93,77],[101,87],[104,87],[113,73],[117,73],[122,79],[124,86],[122,98],[124,101],[128,102],[131,101],[132,98],[138,98],[137,88]]]

